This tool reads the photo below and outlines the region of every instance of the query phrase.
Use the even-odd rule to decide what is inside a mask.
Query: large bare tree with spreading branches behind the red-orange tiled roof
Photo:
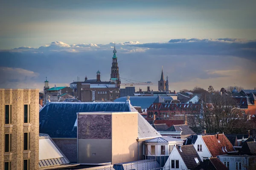
[[[232,133],[235,128],[247,122],[247,115],[238,107],[232,96],[207,96],[201,100],[201,111],[190,113],[193,116],[189,116],[188,124],[198,129],[206,129],[207,133]]]

